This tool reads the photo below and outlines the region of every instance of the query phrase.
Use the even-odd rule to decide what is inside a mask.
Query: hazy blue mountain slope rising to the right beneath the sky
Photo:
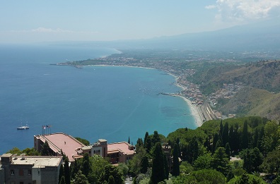
[[[72,42],[73,43],[73,42]],[[190,49],[208,51],[280,50],[280,21],[238,25],[223,30],[163,36],[151,39],[74,42],[116,49]],[[59,44],[64,44],[60,42]],[[69,43],[68,43],[69,44]]]

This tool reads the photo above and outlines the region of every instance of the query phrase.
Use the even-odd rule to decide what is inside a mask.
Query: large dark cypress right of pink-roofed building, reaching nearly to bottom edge
[[[153,167],[151,174],[151,183],[156,184],[165,180],[165,166],[163,148],[160,142],[156,142],[153,149]]]

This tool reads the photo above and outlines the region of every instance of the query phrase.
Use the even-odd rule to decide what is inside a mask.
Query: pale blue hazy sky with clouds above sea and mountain
[[[279,15],[280,0],[0,0],[0,43],[146,39]]]

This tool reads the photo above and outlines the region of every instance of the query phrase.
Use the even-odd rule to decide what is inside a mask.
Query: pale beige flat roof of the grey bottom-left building
[[[35,168],[42,168],[45,166],[59,166],[62,157],[43,157],[43,156],[21,156],[12,157],[12,163],[16,165],[33,165]]]

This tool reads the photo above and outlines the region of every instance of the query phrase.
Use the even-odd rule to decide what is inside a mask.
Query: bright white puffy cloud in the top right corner
[[[245,23],[280,16],[279,0],[217,0],[215,8],[218,9],[216,19],[221,22]]]

